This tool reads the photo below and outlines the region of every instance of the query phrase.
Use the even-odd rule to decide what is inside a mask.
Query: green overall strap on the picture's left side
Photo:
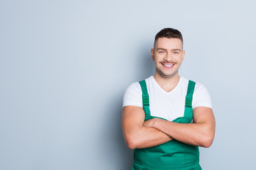
[[[142,103],[143,109],[145,112],[145,121],[151,119],[150,110],[149,110],[149,94],[146,89],[146,81],[139,81],[140,86],[142,87]]]

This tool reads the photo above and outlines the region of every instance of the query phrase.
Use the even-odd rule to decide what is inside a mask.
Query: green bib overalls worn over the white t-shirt
[[[145,112],[145,121],[156,118],[150,115],[149,94],[146,89],[146,81],[139,81],[142,87],[142,101]],[[173,120],[175,123],[191,123],[193,117],[192,97],[195,88],[194,81],[188,81],[186,104],[183,117]],[[177,140],[171,140],[155,147],[134,149],[134,170],[163,170],[182,169],[200,170],[199,151],[197,146],[187,145]]]

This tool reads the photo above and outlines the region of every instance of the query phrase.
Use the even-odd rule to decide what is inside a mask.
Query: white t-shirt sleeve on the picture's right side
[[[208,93],[206,87],[203,86],[203,84],[196,83],[192,107],[197,108],[200,106],[212,108],[212,103],[210,100],[210,94]]]

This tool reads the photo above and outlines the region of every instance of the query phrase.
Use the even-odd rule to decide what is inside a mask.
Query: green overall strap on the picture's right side
[[[192,118],[193,117],[193,108],[192,108],[192,99],[193,91],[195,89],[196,83],[194,81],[188,81],[188,91],[186,94],[186,103],[185,103],[185,113],[184,117]]]

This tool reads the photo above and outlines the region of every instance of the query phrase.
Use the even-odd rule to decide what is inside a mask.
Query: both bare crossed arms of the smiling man
[[[193,123],[174,123],[153,118],[144,122],[143,108],[125,106],[122,114],[124,140],[130,149],[154,147],[170,140],[210,147],[215,135],[215,118],[211,108],[193,109]]]

